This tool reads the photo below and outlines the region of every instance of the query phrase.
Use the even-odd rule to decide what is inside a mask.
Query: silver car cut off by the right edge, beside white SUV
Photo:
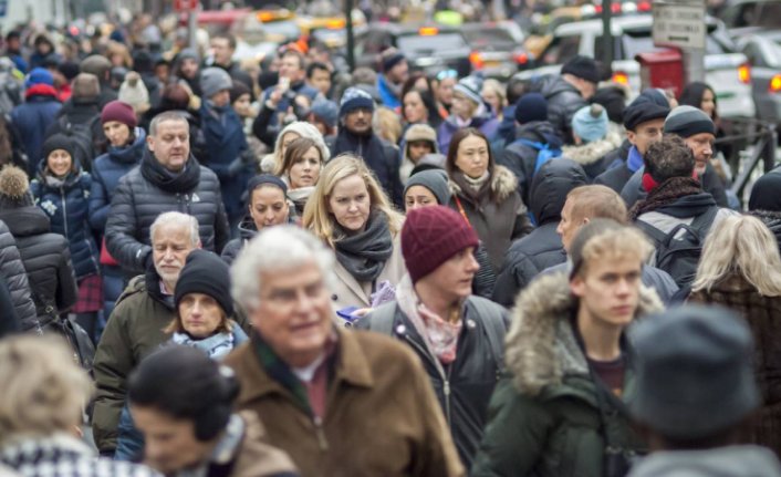
[[[757,117],[781,125],[781,32],[752,34],[739,45],[751,63]]]

